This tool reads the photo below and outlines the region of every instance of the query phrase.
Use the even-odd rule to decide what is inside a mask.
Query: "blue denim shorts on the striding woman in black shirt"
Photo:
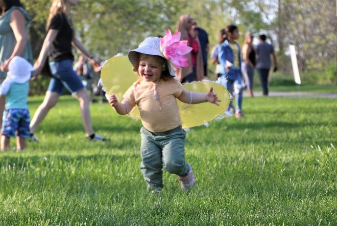
[[[66,87],[69,92],[76,94],[84,88],[81,79],[72,69],[72,60],[49,62],[49,67],[53,77],[49,82],[48,91],[62,95],[63,88]]]

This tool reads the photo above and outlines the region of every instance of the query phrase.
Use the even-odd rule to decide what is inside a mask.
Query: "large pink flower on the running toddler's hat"
[[[184,55],[191,52],[192,47],[187,46],[187,41],[180,41],[180,32],[172,35],[168,29],[165,36],[160,39],[160,51],[176,69],[181,69],[189,65]]]

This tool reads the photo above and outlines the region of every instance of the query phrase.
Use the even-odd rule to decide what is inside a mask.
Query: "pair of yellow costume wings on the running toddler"
[[[101,79],[106,93],[115,94],[117,100],[123,99],[126,90],[138,80],[138,75],[132,71],[132,65],[126,56],[113,57],[103,66]],[[183,128],[191,128],[212,121],[221,115],[228,107],[230,96],[225,87],[210,81],[191,82],[183,84],[184,88],[192,92],[207,93],[211,87],[221,100],[219,106],[212,103],[191,104],[182,103],[177,99]],[[129,116],[140,119],[138,107],[134,107]]]

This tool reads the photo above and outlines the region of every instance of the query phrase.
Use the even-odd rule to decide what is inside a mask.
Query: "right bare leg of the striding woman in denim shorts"
[[[81,116],[83,126],[87,136],[94,134],[93,125],[90,116],[90,96],[86,88],[80,89],[76,92],[75,97],[79,101],[79,107],[81,109]]]

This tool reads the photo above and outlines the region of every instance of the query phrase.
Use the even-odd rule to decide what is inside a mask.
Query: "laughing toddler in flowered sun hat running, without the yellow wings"
[[[163,188],[162,169],[178,175],[181,188],[186,190],[195,185],[191,165],[184,159],[185,130],[176,99],[184,103],[210,102],[220,100],[213,93],[189,92],[175,79],[175,69],[188,66],[184,56],[192,50],[187,41],[180,41],[180,33],[171,35],[168,30],[163,38],[148,37],[137,49],[128,53],[133,70],[139,75],[118,102],[116,95],[109,97],[109,103],[121,115],[139,108],[143,127],[141,129],[141,171],[147,189],[160,194]]]

